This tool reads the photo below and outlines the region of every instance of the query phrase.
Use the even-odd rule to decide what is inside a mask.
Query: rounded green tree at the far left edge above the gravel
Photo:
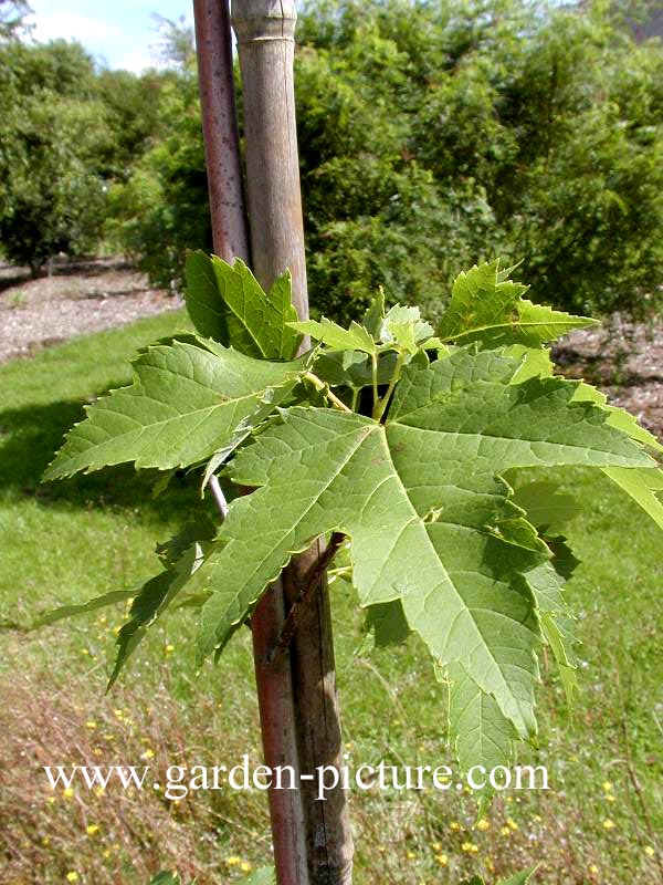
[[[38,272],[57,252],[96,243],[105,199],[97,158],[109,132],[81,45],[7,43],[0,66],[0,242],[6,258]]]

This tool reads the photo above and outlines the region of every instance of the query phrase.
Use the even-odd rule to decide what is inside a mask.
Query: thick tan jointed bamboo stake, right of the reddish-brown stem
[[[304,227],[295,127],[293,82],[294,0],[234,0],[238,35],[253,269],[265,289],[290,268],[293,301],[308,316]],[[284,571],[286,607],[305,597],[292,637],[290,662],[299,767],[312,774],[320,766],[339,768],[341,736],[336,694],[334,645],[326,575],[306,594],[307,576],[323,555],[320,542],[296,556]],[[252,618],[254,623],[255,616]],[[278,645],[274,637],[263,662]],[[272,662],[278,666],[276,656]],[[351,882],[352,841],[345,793],[337,788],[316,799],[315,781],[301,784],[311,885]],[[290,881],[281,879],[280,885]]]

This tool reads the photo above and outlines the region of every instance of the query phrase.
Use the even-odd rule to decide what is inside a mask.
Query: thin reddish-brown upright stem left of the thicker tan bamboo
[[[235,256],[249,260],[228,0],[193,0],[193,15],[214,251],[229,262]],[[276,582],[251,618],[263,756],[270,768],[290,764],[298,778],[290,660],[266,664],[284,624],[283,586]],[[301,794],[270,790],[269,802],[278,883],[308,885]]]

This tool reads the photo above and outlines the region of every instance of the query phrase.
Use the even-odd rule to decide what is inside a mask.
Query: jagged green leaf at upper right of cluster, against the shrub
[[[438,330],[442,341],[478,342],[482,347],[525,344],[538,347],[573,329],[598,325],[523,298],[528,287],[499,271],[499,261],[474,266],[454,281],[449,308]]]

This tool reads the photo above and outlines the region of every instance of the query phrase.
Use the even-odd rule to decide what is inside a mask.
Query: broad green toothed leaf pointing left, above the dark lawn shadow
[[[302,361],[270,363],[210,345],[213,352],[179,341],[148,347],[129,387],[86,407],[44,479],[123,461],[160,470],[202,461],[245,438],[243,421],[266,417],[271,391],[294,387],[304,371]]]

